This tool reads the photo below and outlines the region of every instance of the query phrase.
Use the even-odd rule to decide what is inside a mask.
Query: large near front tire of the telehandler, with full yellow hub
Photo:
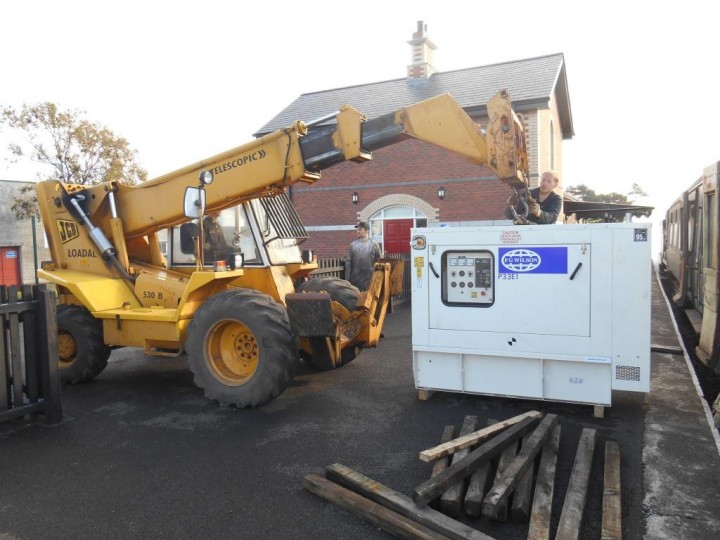
[[[292,382],[298,363],[285,307],[247,289],[207,300],[190,323],[185,350],[205,396],[236,407],[275,399]]]

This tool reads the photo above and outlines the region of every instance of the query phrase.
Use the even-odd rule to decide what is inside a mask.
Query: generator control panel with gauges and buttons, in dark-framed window
[[[495,302],[495,257],[491,251],[446,251],[442,255],[442,301],[448,306],[490,307]]]

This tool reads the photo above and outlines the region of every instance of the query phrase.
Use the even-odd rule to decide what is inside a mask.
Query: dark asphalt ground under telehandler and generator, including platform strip
[[[418,452],[436,445],[445,425],[529,410],[558,414],[562,426],[553,532],[580,433],[592,427],[579,538],[600,537],[610,440],[622,454],[624,538],[716,537],[720,457],[682,355],[653,353],[651,393],[614,392],[604,418],[587,405],[452,393],[421,401],[410,327],[410,309],[398,309],[378,348],[331,372],[301,366],[259,409],[205,399],[182,357],[114,351],[96,380],[63,387],[61,424],[0,424],[0,540],[389,538],[305,491],[304,476],[341,463],[411,495],[431,470]],[[678,346],[655,282],[653,327],[653,343]],[[526,523],[463,521],[498,539],[527,536]]]

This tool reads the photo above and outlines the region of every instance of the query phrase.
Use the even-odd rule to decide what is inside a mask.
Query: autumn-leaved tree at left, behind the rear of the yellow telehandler
[[[92,185],[106,181],[135,185],[147,179],[147,171],[136,162],[127,140],[105,126],[82,117],[84,111],[61,111],[54,103],[3,107],[0,125],[24,137],[8,145],[11,163],[29,159],[40,164],[36,180],[60,180],[68,184]],[[24,186],[15,197],[12,211],[18,219],[37,215],[32,186]]]

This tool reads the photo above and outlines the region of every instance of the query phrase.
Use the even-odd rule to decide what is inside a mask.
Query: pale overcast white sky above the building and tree
[[[153,178],[251,140],[300,94],[405,77],[421,20],[439,71],[564,55],[565,186],[637,183],[660,219],[720,160],[717,0],[4,0],[0,106],[84,111]],[[0,179],[32,180],[6,140]]]

